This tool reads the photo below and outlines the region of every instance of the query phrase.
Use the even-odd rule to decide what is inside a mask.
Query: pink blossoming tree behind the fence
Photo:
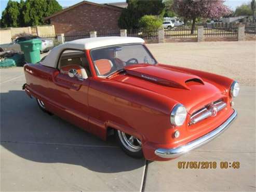
[[[192,19],[193,34],[196,18],[220,18],[231,14],[223,3],[223,0],[174,0],[173,10],[184,20]]]

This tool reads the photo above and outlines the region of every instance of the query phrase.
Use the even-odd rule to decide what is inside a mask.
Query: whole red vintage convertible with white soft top
[[[160,64],[136,37],[78,39],[24,66],[23,89],[46,113],[106,140],[132,157],[169,160],[214,139],[237,116],[239,84]]]

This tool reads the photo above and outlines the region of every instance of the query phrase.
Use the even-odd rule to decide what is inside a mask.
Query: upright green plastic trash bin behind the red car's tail
[[[31,39],[19,42],[21,51],[24,52],[24,58],[27,63],[37,63],[40,61],[40,50],[42,48],[42,40]]]

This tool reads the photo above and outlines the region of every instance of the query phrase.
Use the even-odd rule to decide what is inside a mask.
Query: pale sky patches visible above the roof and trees
[[[13,0],[13,1],[20,1],[20,0]],[[36,0],[35,0],[36,1]],[[83,0],[57,0],[62,7],[71,6],[82,2]],[[87,0],[93,3],[113,3],[113,2],[125,2],[125,0]],[[235,10],[237,6],[249,3],[250,0],[226,0],[225,5],[230,7],[232,10]],[[8,0],[0,0],[0,17],[2,17],[2,12],[5,9]]]

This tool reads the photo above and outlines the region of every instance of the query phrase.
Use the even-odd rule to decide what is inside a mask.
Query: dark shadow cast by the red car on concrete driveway
[[[1,145],[26,160],[74,164],[103,173],[131,171],[145,163],[123,153],[114,136],[104,142],[43,113],[22,90],[1,93]]]

